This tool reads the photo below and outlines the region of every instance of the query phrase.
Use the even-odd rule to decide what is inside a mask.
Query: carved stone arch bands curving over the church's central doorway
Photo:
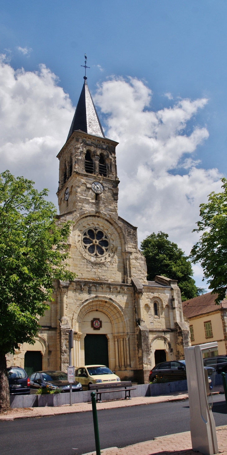
[[[127,313],[117,301],[103,295],[87,298],[81,303],[73,314],[72,327],[74,331],[81,332],[81,323],[85,314],[94,310],[99,310],[109,317],[113,327],[113,335],[129,332]]]

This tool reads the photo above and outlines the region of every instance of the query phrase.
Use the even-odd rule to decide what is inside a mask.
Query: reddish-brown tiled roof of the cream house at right
[[[183,314],[187,318],[194,318],[200,314],[211,313],[219,308],[227,308],[227,300],[223,300],[220,305],[215,304],[217,294],[208,292],[207,294],[199,295],[182,302]]]

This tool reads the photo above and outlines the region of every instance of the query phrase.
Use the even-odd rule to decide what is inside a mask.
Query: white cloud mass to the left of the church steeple
[[[38,72],[15,71],[0,62],[0,172],[47,187],[57,205],[57,153],[66,141],[74,115],[69,96],[44,65]]]

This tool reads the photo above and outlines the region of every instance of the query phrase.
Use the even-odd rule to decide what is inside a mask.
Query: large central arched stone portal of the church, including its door
[[[72,321],[74,364],[109,364],[112,370],[130,368],[128,318],[114,300],[96,296],[84,301]],[[94,361],[92,361],[94,359]]]

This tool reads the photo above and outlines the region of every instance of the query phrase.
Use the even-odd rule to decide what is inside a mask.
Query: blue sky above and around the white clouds
[[[200,160],[197,169],[217,168],[226,175],[226,24],[224,0],[2,1],[0,53],[6,55],[5,62],[14,70],[23,67],[25,72],[39,71],[39,65],[44,64],[58,76],[58,86],[69,94],[73,106],[83,84],[84,69],[80,65],[84,64],[84,52],[93,94],[97,84],[102,86],[114,75],[125,81],[128,76],[143,81],[153,92],[148,109],[154,112],[173,107],[182,99],[206,98],[207,103],[188,117],[184,134],[190,135],[195,127],[206,128],[209,137],[197,142],[193,160]],[[107,113],[100,99],[97,105],[105,126],[106,115],[113,118],[113,111]],[[68,112],[70,117],[70,108]],[[110,123],[109,131],[113,131]],[[67,136],[67,131],[64,134]],[[183,176],[188,170],[180,167],[179,160],[178,166],[168,172]],[[124,181],[123,162],[120,177]],[[217,176],[213,182],[217,182]],[[124,184],[123,188],[126,191]],[[133,222],[132,204],[120,207]],[[123,216],[123,212],[120,214]],[[198,211],[193,223],[197,219]],[[174,234],[174,223],[167,223],[165,229],[164,221],[160,221],[154,229],[143,229],[139,220],[136,222],[142,238],[149,229],[152,232],[161,228],[172,233],[171,239],[180,238],[180,246],[189,252],[194,238],[188,243],[186,233],[181,236],[178,230]],[[197,283],[200,281],[198,272]]]

